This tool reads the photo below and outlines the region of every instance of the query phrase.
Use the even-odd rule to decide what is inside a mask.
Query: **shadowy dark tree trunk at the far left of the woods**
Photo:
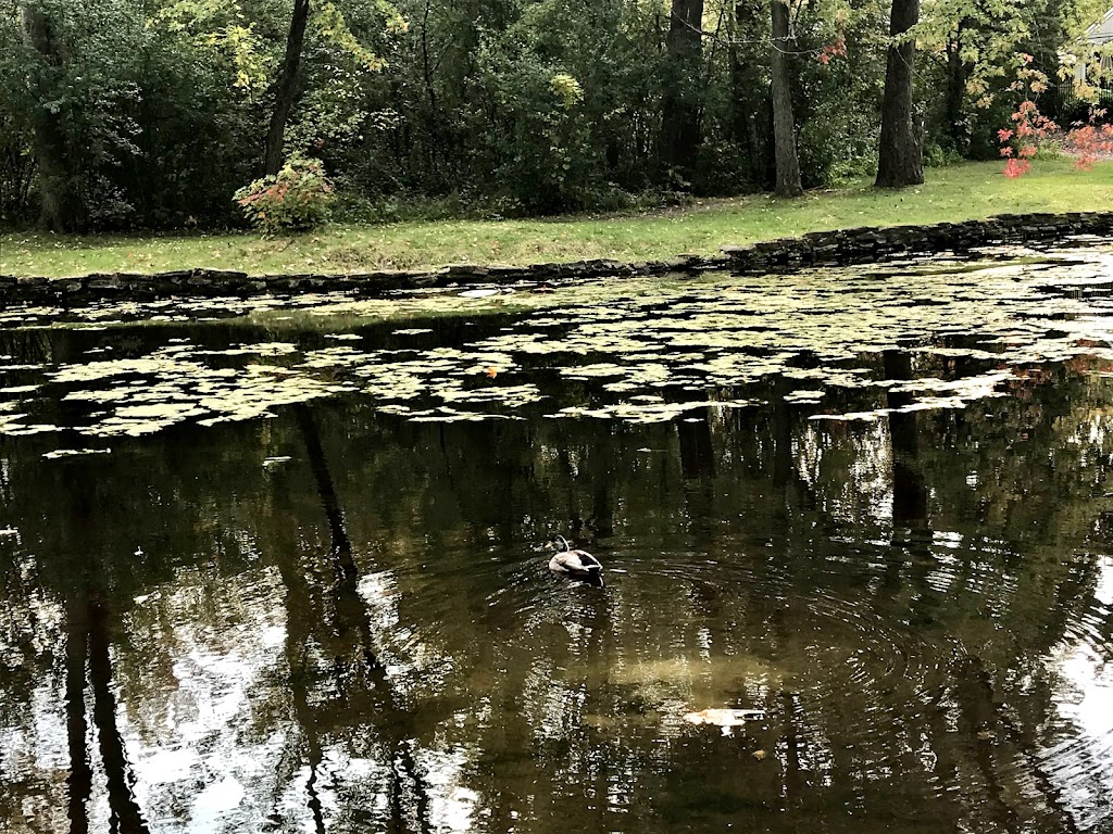
[[[23,6],[23,42],[33,50],[42,64],[32,85],[38,103],[32,116],[35,128],[35,159],[39,166],[39,226],[47,231],[80,231],[85,225],[85,211],[77,193],[76,177],[70,168],[68,142],[61,116],[46,107],[53,100],[53,90],[46,89],[53,75],[46,68],[61,66],[61,49],[55,27],[46,12],[33,2]]]

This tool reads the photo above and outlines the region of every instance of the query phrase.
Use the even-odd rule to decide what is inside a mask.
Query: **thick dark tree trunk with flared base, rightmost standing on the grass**
[[[889,36],[897,38],[919,20],[919,0],[893,0]],[[889,44],[881,103],[881,141],[877,156],[879,188],[903,188],[924,181],[923,148],[913,113],[912,82],[916,60],[913,40]]]

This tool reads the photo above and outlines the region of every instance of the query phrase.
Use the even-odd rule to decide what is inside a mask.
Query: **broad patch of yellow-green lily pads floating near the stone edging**
[[[0,435],[140,436],[337,396],[414,423],[646,424],[774,397],[816,420],[878,420],[1004,396],[1024,369],[1046,363],[1086,356],[1113,367],[1110,248],[1015,257],[912,262],[900,274],[577,281],[522,289],[512,307],[503,292],[455,290],[101,305],[79,325],[107,327],[106,344],[79,360],[0,355]],[[24,312],[32,322],[50,317]],[[439,319],[492,315],[501,317],[493,327],[463,340],[454,328],[444,344]],[[240,328],[243,342],[207,346],[208,320]],[[117,358],[108,344],[114,329],[178,321],[189,324],[142,355]],[[886,378],[890,351],[905,355],[910,378]],[[785,383],[776,395],[771,379]],[[898,405],[889,395],[902,395]],[[55,425],[57,409],[43,416],[49,403],[71,406],[67,425]],[[95,450],[57,454],[70,451]]]

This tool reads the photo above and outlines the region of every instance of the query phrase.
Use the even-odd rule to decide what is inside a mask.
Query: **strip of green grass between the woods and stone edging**
[[[798,200],[757,195],[634,216],[334,225],[280,239],[248,234],[11,234],[0,236],[0,275],[63,277],[194,267],[253,274],[356,272],[453,262],[657,260],[823,229],[1113,207],[1113,162],[1087,172],[1074,170],[1070,160],[1041,160],[1018,180],[1005,179],[998,163],[969,163],[929,169],[927,180],[903,191],[876,190],[861,182],[811,191]]]

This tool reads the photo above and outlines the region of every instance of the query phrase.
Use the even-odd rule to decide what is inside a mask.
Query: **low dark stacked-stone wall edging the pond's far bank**
[[[1113,211],[1061,215],[1001,215],[986,220],[930,226],[889,226],[812,231],[801,237],[728,246],[717,256],[681,255],[660,261],[627,264],[581,260],[530,266],[453,264],[437,269],[380,270],[347,275],[262,275],[226,269],[183,269],[144,275],[100,272],[79,278],[0,275],[0,308],[19,304],[63,307],[95,301],[138,301],[174,297],[349,291],[375,296],[391,290],[473,284],[544,282],[568,278],[629,277],[669,272],[731,270],[739,274],[786,271],[806,266],[840,266],[909,256],[965,252],[998,244],[1046,244],[1074,235],[1110,235]]]

